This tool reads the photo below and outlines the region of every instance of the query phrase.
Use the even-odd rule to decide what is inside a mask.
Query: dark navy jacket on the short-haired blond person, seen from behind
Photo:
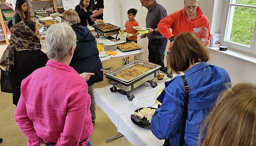
[[[86,26],[82,26],[80,23],[73,24],[71,27],[75,31],[77,44],[69,66],[79,74],[83,72],[95,73],[87,81],[89,86],[103,81],[103,72],[100,70],[102,65],[95,37]]]

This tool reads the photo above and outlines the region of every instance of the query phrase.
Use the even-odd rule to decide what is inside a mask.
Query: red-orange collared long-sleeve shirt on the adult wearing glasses
[[[195,19],[188,20],[188,15],[184,7],[182,10],[176,11],[173,14],[163,18],[158,23],[157,28],[163,36],[170,39],[172,36],[176,37],[181,32],[193,31],[197,27],[204,26],[209,31],[208,39],[205,44],[207,46],[211,38],[210,24],[207,17],[203,15],[203,12],[199,7],[197,7],[196,11],[197,15]],[[172,28],[172,32],[169,30],[169,28]]]

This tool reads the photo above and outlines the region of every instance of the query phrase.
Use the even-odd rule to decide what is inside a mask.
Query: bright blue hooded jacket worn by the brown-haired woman
[[[214,108],[219,93],[231,85],[226,84],[230,83],[230,77],[225,69],[206,62],[192,66],[185,77],[190,92],[184,146],[197,146],[204,119]],[[152,117],[151,131],[159,139],[169,138],[171,146],[178,146],[185,97],[184,82],[181,76],[177,76],[165,82],[165,87],[157,98],[162,105]]]

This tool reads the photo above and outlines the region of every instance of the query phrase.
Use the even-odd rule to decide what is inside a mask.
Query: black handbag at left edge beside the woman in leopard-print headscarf
[[[3,69],[1,69],[0,84],[2,92],[12,93],[11,75],[6,73]]]

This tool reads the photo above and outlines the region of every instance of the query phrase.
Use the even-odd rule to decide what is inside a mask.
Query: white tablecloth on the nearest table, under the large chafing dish
[[[171,79],[168,78],[166,81],[168,80]],[[96,104],[117,127],[117,131],[122,133],[134,146],[162,146],[164,140],[157,139],[150,129],[140,128],[132,123],[130,114],[139,107],[133,105],[126,95],[117,92],[112,93],[109,89],[111,87],[112,85],[94,89],[94,98]],[[161,88],[164,88],[164,82],[158,82],[158,86],[155,88],[146,82],[131,92],[131,95],[155,98]],[[153,107],[157,107],[157,104]]]

